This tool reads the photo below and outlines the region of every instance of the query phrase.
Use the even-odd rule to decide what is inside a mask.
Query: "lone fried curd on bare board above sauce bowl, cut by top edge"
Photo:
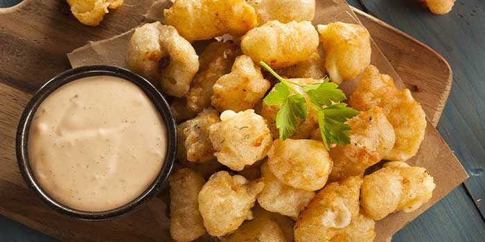
[[[67,0],[71,12],[87,26],[98,26],[109,9],[115,9],[123,5],[123,0]]]

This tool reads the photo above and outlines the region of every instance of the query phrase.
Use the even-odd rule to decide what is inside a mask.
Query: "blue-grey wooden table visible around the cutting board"
[[[0,0],[0,7],[19,1]],[[358,0],[348,2],[363,9]],[[416,0],[362,2],[371,14],[423,41],[452,66],[453,86],[438,130],[470,174],[393,241],[485,241],[485,1],[457,0],[443,16],[420,8]],[[0,216],[0,241],[54,239]]]

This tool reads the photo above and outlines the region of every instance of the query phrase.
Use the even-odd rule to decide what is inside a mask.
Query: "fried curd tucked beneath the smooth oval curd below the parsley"
[[[308,202],[315,197],[315,192],[297,189],[281,183],[271,173],[266,162],[261,166],[261,176],[264,178],[265,188],[258,195],[258,203],[267,211],[277,212],[296,219]]]

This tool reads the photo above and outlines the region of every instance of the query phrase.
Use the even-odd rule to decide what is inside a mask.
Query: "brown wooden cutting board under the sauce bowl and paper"
[[[152,0],[125,1],[96,27],[82,26],[65,1],[24,0],[0,9],[0,213],[36,230],[67,241],[164,241],[157,213],[166,207],[155,198],[141,210],[116,221],[83,222],[59,216],[24,185],[15,158],[15,131],[31,95],[51,77],[70,68],[66,53],[121,34],[143,21]],[[398,75],[423,104],[436,125],[450,91],[452,74],[446,61],[403,32],[354,10],[369,29]],[[415,87],[417,86],[417,87]],[[418,90],[418,91],[417,91]],[[164,196],[162,193],[160,196]]]

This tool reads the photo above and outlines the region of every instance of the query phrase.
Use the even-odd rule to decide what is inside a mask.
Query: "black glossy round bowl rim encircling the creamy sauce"
[[[44,101],[44,99],[53,93],[56,89],[60,88],[64,84],[78,80],[82,77],[91,77],[96,75],[112,75],[115,77],[121,77],[125,80],[133,82],[139,86],[145,93],[150,97],[150,100],[155,104],[155,107],[159,111],[162,120],[164,120],[166,130],[167,130],[167,153],[164,160],[164,165],[152,182],[152,184],[145,189],[145,191],[135,198],[130,203],[118,207],[114,210],[108,210],[105,212],[85,212],[80,210],[75,210],[71,207],[67,207],[53,198],[48,196],[46,192],[40,187],[40,185],[35,180],[32,169],[30,169],[30,162],[28,160],[28,133],[30,131],[30,123],[32,122],[35,111],[39,105]],[[118,68],[114,66],[82,66],[79,68],[74,68],[49,80],[44,86],[42,86],[37,93],[32,97],[30,102],[28,102],[24,113],[22,113],[19,126],[17,129],[17,140],[16,140],[16,152],[17,152],[17,162],[19,164],[19,169],[24,177],[25,182],[28,187],[31,187],[39,198],[44,201],[49,207],[60,212],[61,214],[70,216],[72,218],[78,218],[87,221],[105,221],[117,218],[124,214],[133,212],[141,204],[153,198],[164,186],[170,171],[172,170],[173,163],[175,161],[175,153],[177,151],[177,126],[172,114],[170,113],[170,107],[166,102],[165,98],[155,89],[148,80],[143,77],[132,73],[123,68]]]

